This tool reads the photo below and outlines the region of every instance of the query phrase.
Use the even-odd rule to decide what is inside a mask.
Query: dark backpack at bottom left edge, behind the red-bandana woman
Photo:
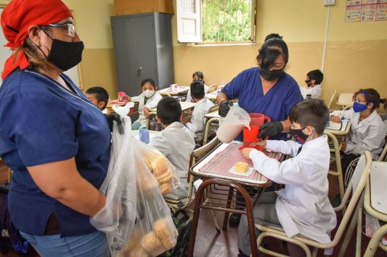
[[[0,252],[6,254],[9,248],[13,248],[21,254],[28,251],[28,242],[21,237],[19,231],[12,224],[8,211],[8,192],[10,184],[0,185]]]

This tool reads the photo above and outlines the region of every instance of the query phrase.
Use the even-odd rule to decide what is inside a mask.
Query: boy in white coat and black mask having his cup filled
[[[275,183],[285,184],[277,192],[261,194],[254,207],[254,220],[261,225],[283,227],[289,237],[301,234],[329,243],[330,232],[337,224],[328,199],[330,150],[328,138],[323,135],[329,110],[322,100],[307,99],[294,105],[289,118],[290,134],[296,142],[263,140],[254,144],[267,151],[290,154],[292,158],[280,163],[254,148],[241,150],[245,158],[252,160],[254,169]],[[246,255],[251,254],[248,233],[243,215],[238,228],[238,247]]]

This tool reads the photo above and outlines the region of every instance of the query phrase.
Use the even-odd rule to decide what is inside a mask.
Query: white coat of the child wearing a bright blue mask
[[[332,115],[351,121],[350,132],[346,137],[346,154],[364,154],[366,150],[372,154],[372,159],[377,160],[379,154],[383,151],[386,143],[386,126],[376,110],[363,121],[359,121],[360,113],[353,109],[345,111],[334,111]]]

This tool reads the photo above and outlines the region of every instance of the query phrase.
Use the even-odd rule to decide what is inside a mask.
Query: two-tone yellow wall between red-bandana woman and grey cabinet
[[[75,28],[84,41],[81,71],[84,92],[100,85],[111,99],[117,95],[110,17],[113,0],[63,0],[73,10]]]

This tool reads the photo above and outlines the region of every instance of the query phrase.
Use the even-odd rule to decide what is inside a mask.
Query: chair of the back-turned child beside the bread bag
[[[203,145],[202,147],[199,147],[196,150],[193,150],[191,153],[191,156],[189,158],[189,169],[195,165],[198,161],[200,161],[204,156],[206,156],[211,150],[213,150],[217,145],[219,144],[218,138],[215,137],[212,139],[209,143],[206,145]],[[167,205],[173,210],[176,211],[178,209],[185,209],[192,201],[192,192],[193,192],[193,181],[195,181],[195,177],[191,176],[191,174],[188,173],[188,195],[186,198],[186,202],[182,203],[179,200],[173,200],[164,198],[167,202]],[[213,213],[214,215],[214,213]]]

